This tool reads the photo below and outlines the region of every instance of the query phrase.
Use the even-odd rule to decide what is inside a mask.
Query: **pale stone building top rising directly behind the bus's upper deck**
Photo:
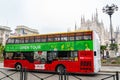
[[[39,34],[38,30],[29,28],[24,25],[19,25],[15,29],[16,35],[28,35],[28,34]]]

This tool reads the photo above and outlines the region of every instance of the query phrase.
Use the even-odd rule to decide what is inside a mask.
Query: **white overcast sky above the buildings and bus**
[[[0,25],[14,31],[17,25],[37,29],[40,33],[63,32],[80,27],[81,16],[90,19],[96,8],[99,21],[109,29],[109,16],[102,12],[104,6],[120,0],[0,0]],[[120,9],[112,15],[112,24],[120,26]]]

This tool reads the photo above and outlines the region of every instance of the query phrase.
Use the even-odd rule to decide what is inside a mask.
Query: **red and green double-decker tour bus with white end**
[[[100,70],[100,41],[95,31],[74,31],[8,38],[4,67],[70,73]]]

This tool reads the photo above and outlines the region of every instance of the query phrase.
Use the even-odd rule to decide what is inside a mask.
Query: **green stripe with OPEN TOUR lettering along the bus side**
[[[69,51],[93,50],[93,41],[44,42],[29,44],[7,44],[6,51]]]

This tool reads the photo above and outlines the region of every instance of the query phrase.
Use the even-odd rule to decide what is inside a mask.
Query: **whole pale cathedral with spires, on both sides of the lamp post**
[[[111,43],[111,36],[108,29],[105,29],[103,21],[99,21],[98,12],[91,16],[91,19],[85,20],[85,17],[81,17],[81,26],[79,30],[94,30],[97,32],[100,38],[101,45],[108,45]],[[120,51],[120,30],[119,27],[116,28],[116,31],[112,32],[112,37],[114,39],[114,43],[118,44],[118,51]]]

